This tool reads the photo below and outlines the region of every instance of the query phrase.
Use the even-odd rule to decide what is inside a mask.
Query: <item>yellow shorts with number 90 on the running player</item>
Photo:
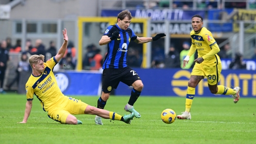
[[[203,75],[207,76],[209,85],[216,85],[220,81],[220,74],[222,71],[221,63],[216,66],[207,66],[203,64],[195,63],[191,75]]]

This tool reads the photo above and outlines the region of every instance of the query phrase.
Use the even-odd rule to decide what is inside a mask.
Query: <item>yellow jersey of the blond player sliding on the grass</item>
[[[44,72],[39,76],[31,74],[26,83],[27,101],[32,101],[33,95],[35,95],[41,102],[43,110],[46,112],[61,104],[67,98],[61,92],[54,73],[52,72],[53,67],[57,63],[55,57],[50,58],[44,63]]]

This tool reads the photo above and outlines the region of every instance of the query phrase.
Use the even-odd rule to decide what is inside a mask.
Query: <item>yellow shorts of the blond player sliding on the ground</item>
[[[76,100],[73,98],[68,98],[61,105],[56,105],[54,109],[48,111],[49,118],[61,122],[66,123],[67,115],[80,115],[84,114],[84,111],[88,104],[82,102],[81,100]]]

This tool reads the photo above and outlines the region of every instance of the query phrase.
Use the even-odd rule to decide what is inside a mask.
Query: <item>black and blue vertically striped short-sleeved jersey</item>
[[[109,26],[103,35],[111,37],[114,31],[119,31],[119,37],[108,43],[108,53],[104,59],[102,69],[127,67],[128,45],[130,40],[137,39],[132,29],[123,30],[117,24]]]

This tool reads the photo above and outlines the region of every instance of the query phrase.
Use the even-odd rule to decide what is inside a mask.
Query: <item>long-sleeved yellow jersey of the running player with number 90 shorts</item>
[[[197,50],[198,58],[204,58],[202,64],[215,66],[221,63],[221,59],[217,55],[220,48],[208,29],[203,27],[199,32],[192,30],[190,35],[192,38],[192,45],[190,53],[188,54],[189,57],[191,57],[195,50]]]

